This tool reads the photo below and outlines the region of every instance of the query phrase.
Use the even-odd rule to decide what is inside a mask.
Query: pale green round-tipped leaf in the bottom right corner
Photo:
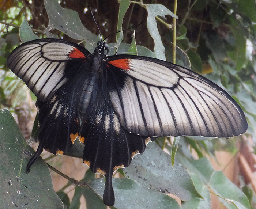
[[[227,208],[251,209],[246,195],[222,171],[212,174],[209,186]]]

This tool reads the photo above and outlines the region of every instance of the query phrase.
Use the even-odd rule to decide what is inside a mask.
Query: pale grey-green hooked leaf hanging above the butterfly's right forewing
[[[155,19],[156,16],[165,16],[170,15],[174,18],[178,17],[174,15],[169,9],[167,9],[162,4],[147,4],[146,5],[148,17],[147,17],[147,28],[148,32],[150,33],[151,37],[154,39],[154,57],[166,60],[165,58],[165,47],[163,46],[161,36],[159,34],[157,28],[157,21]]]

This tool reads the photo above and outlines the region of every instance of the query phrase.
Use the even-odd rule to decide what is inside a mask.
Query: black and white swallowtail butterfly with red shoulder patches
[[[112,176],[159,136],[232,137],[245,115],[222,88],[182,66],[136,55],[106,56],[61,39],[18,46],[7,65],[37,96],[39,146],[65,154],[75,140],[83,162],[106,176],[103,201],[114,205]]]

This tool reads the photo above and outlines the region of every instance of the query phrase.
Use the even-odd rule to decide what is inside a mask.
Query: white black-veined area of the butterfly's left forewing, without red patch
[[[64,69],[73,48],[58,42],[31,43],[15,50],[7,64],[40,100],[46,102],[67,82]]]

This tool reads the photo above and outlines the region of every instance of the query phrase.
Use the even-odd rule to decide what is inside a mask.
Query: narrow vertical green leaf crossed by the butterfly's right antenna
[[[123,30],[122,24],[123,24],[123,18],[125,13],[127,12],[127,9],[130,6],[129,0],[120,0],[119,1],[119,12],[118,12],[118,22],[117,22],[117,31]],[[124,33],[123,31],[116,34],[116,50],[118,50],[118,47],[120,43],[123,41]],[[116,53],[116,51],[115,51]]]

